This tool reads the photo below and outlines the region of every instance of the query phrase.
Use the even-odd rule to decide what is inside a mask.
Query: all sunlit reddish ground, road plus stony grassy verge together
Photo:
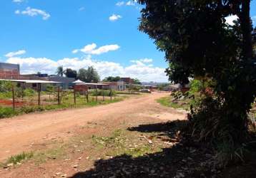
[[[67,177],[93,168],[95,161],[117,155],[140,157],[169,147],[154,133],[128,128],[184,119],[182,112],[156,102],[169,93],[133,96],[95,108],[22,115],[0,120],[0,159],[14,163],[0,177]],[[157,131],[156,131],[157,132]],[[158,145],[158,146],[157,146]],[[24,152],[24,154],[22,154]],[[19,156],[18,155],[21,154]],[[29,159],[24,162],[24,159]],[[19,165],[21,164],[21,165]],[[76,175],[75,177],[78,177]]]

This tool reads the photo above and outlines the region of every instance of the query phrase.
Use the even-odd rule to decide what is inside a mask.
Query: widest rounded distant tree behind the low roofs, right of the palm
[[[88,67],[87,69],[80,68],[78,78],[79,80],[87,83],[97,83],[100,80],[97,70],[95,70],[92,66]]]

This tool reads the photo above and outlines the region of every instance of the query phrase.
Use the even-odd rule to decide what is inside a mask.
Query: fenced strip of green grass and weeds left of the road
[[[89,90],[88,101],[86,95],[76,93],[76,100],[74,102],[74,93],[70,91],[63,91],[60,93],[60,104],[58,104],[58,93],[56,87],[47,85],[46,91],[41,92],[41,105],[39,106],[38,93],[36,90],[31,88],[22,90],[21,86],[14,85],[16,106],[14,110],[12,108],[11,85],[12,84],[9,82],[0,82],[0,119],[46,110],[106,105],[109,103],[119,102],[124,98],[127,98],[126,95],[117,95],[114,90]]]

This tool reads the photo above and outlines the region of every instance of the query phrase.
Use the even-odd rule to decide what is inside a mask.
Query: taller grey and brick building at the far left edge
[[[0,78],[19,79],[19,64],[0,63]]]

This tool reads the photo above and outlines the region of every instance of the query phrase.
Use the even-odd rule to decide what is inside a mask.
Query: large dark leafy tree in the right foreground
[[[227,150],[242,147],[248,138],[247,113],[256,95],[250,0],[139,3],[145,5],[139,29],[165,52],[169,80],[211,80],[214,94],[203,90],[200,106],[192,108],[192,130],[199,133],[195,137]],[[234,26],[225,23],[231,15],[238,17]]]

